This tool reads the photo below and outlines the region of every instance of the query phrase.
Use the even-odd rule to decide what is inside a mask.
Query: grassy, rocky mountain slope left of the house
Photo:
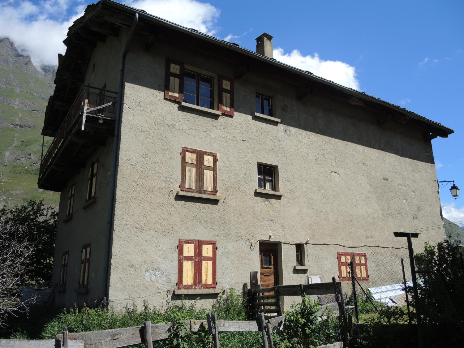
[[[0,206],[30,199],[58,206],[58,193],[37,187],[40,132],[56,72],[55,66],[45,68],[44,75],[9,39],[0,39]],[[45,144],[50,140],[45,138]]]

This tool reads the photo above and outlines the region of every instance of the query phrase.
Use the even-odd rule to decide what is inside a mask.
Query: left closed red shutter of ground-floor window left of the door
[[[179,261],[177,271],[177,287],[179,289],[195,289],[198,286],[198,240],[179,239]]]

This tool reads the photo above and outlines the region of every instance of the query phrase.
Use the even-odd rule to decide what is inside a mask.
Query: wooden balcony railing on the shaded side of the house
[[[47,152],[42,158],[39,169],[39,182],[55,155],[63,147],[72,133],[87,130],[87,123],[102,123],[104,119],[114,120],[116,116],[117,93],[110,90],[84,86],[77,94],[63,123],[58,129]]]

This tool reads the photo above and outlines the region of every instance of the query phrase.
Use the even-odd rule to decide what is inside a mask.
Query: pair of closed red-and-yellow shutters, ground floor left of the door
[[[216,242],[179,239],[179,289],[216,289]]]

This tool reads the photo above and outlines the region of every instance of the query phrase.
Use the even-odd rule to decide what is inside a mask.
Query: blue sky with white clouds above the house
[[[89,3],[0,0],[0,37],[12,39],[36,65],[56,64],[67,27]],[[463,189],[458,200],[450,185],[441,190],[445,217],[464,220],[463,1],[124,3],[253,51],[254,39],[268,32],[280,49],[277,59],[454,129],[432,144],[438,180]]]

